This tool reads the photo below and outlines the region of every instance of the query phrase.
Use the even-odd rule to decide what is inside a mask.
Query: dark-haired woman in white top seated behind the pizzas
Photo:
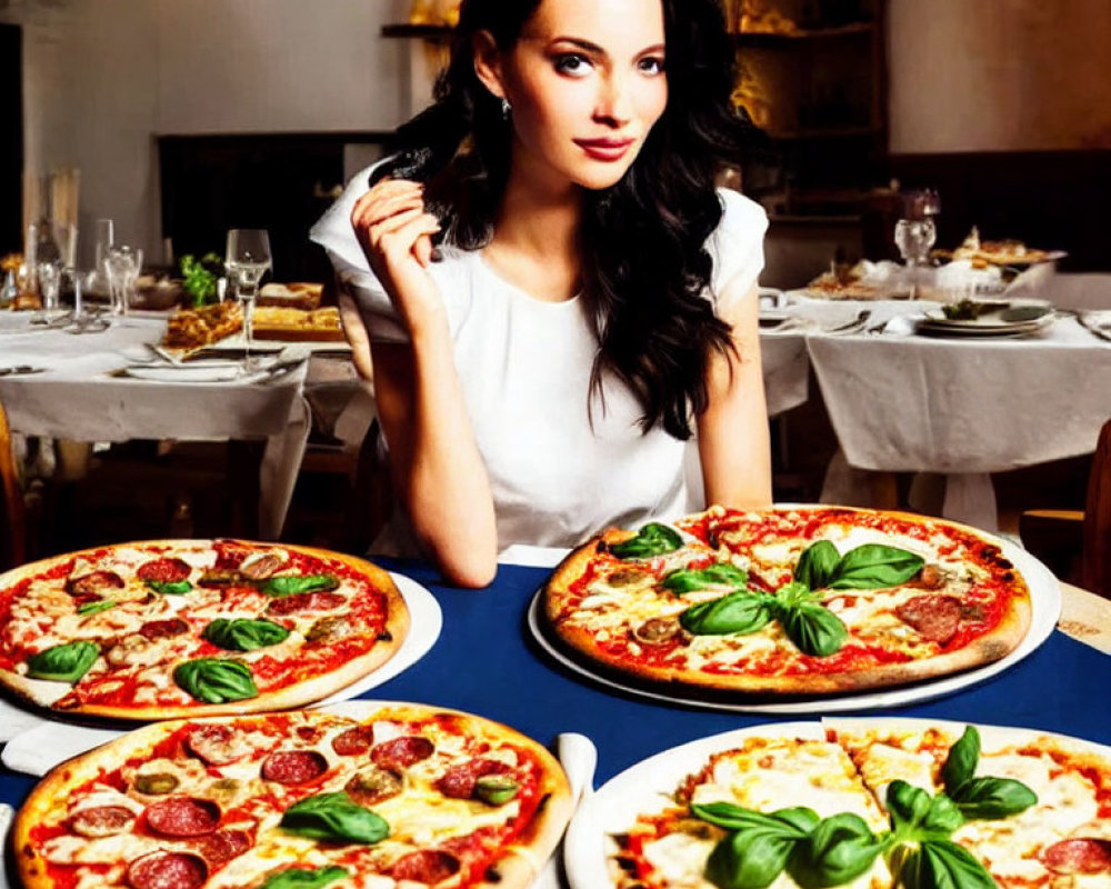
[[[713,0],[464,0],[407,150],[313,229],[369,332],[409,533],[448,579],[690,511],[703,485],[770,502],[767,219],[713,186],[731,89]]]

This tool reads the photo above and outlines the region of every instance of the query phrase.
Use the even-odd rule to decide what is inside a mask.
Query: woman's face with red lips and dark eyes
[[[614,184],[668,102],[661,0],[541,0],[500,57],[513,166],[552,184]]]

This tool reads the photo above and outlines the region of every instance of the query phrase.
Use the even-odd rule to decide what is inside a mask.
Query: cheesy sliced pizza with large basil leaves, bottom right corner
[[[707,740],[708,753],[705,742],[687,757],[678,749],[692,767],[670,787],[630,793],[624,781],[624,795],[611,797],[602,829],[612,886],[1111,885],[1107,747],[917,719],[789,723]]]

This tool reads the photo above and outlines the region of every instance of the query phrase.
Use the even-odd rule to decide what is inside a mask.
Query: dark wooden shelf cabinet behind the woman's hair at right
[[[743,188],[777,217],[855,217],[887,182],[885,0],[737,0],[734,100],[768,136]]]

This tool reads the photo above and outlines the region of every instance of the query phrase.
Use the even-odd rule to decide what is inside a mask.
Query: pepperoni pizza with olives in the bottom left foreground
[[[570,798],[506,726],[352,701],[141,728],[48,773],[12,842],[26,889],[523,889]]]

